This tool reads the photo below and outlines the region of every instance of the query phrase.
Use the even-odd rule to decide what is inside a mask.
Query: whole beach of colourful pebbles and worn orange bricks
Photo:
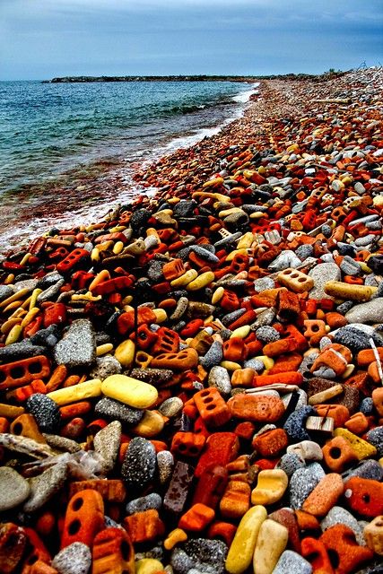
[[[4,574],[381,571],[382,87],[265,82],[4,258]]]

